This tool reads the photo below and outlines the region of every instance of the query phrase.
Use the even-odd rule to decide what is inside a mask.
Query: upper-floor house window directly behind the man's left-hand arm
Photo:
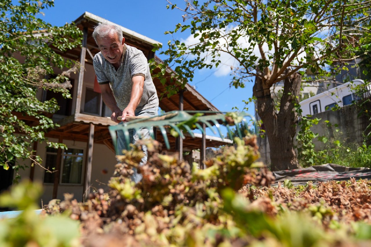
[[[96,116],[111,116],[112,112],[102,100],[101,93],[94,92],[91,88],[85,90],[85,104],[83,113]]]

